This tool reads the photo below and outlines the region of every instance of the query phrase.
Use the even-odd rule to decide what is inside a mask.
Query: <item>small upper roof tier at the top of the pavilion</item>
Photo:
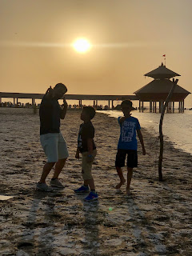
[[[175,73],[172,70],[169,70],[163,64],[159,66],[157,69],[150,71],[147,74],[144,74],[146,77],[151,77],[154,79],[164,79],[164,78],[174,78],[176,76],[180,76],[180,74]]]

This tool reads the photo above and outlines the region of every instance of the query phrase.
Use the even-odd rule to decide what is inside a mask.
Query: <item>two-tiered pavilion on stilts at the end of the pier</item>
[[[162,63],[162,65],[158,66],[157,69],[152,70],[144,75],[146,77],[154,78],[154,80],[134,92],[134,94],[136,94],[139,98],[139,110],[140,112],[143,112],[144,102],[150,102],[150,112],[157,113],[158,110],[158,112],[161,113],[162,106],[166,101],[166,98],[173,85],[173,82],[170,81],[170,78],[180,76],[180,74],[177,74],[174,71],[167,69],[166,66],[164,66]],[[184,100],[188,94],[190,94],[189,91],[177,85],[174,89],[174,94],[170,98],[170,102],[168,102],[166,112],[174,113],[174,103],[178,102],[178,112],[183,113]]]

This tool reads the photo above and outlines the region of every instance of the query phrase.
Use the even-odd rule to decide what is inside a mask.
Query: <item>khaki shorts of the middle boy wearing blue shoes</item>
[[[97,150],[93,150],[93,157],[95,158],[97,154]],[[85,181],[86,179],[91,179],[92,174],[91,174],[91,167],[94,162],[94,158],[91,162],[87,162],[88,158],[88,152],[82,152],[82,178]]]

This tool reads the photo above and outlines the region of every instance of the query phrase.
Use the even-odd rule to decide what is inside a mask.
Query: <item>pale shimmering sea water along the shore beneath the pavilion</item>
[[[118,110],[99,111],[118,118],[122,112]],[[132,116],[138,118],[140,125],[157,136],[161,114],[158,113],[139,113],[137,110],[132,112]],[[185,110],[182,114],[166,113],[162,122],[162,133],[164,139],[174,143],[174,146],[192,154],[192,110]]]

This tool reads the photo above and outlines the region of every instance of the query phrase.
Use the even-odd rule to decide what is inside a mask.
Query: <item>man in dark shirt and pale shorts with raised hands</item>
[[[50,87],[42,98],[39,108],[40,141],[46,154],[47,162],[43,167],[42,176],[37,184],[38,190],[52,191],[52,188],[46,185],[46,177],[54,165],[54,176],[50,181],[50,185],[64,187],[58,180],[58,175],[61,173],[66,158],[69,156],[66,141],[60,131],[60,119],[64,119],[66,116],[67,103],[63,99],[63,105],[60,107],[58,99],[63,98],[66,91],[66,86],[62,83],[58,83],[54,86],[54,89]]]

